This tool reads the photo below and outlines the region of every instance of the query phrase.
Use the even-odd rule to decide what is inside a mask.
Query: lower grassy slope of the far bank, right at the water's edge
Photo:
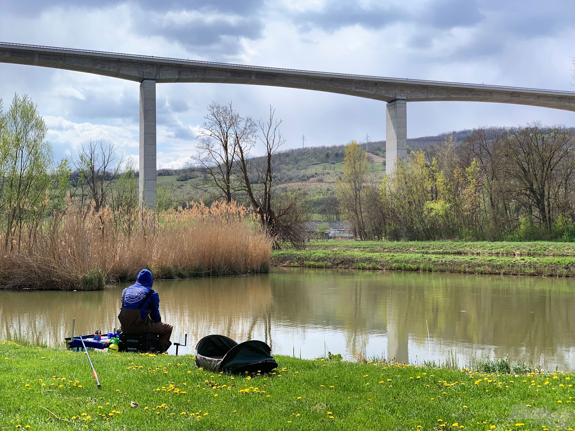
[[[433,255],[429,253],[308,249],[274,251],[271,262],[274,266],[310,268],[575,276],[575,257]]]

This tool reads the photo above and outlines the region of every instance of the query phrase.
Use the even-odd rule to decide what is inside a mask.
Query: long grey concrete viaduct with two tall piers
[[[254,84],[328,91],[386,102],[388,173],[398,159],[407,160],[407,102],[497,102],[575,111],[575,91],[334,74],[37,45],[0,43],[0,63],[74,70],[139,82],[140,194],[147,205],[156,197],[156,83]]]

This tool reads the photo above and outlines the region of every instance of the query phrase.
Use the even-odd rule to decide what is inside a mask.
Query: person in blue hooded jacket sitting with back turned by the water
[[[158,334],[158,352],[172,345],[172,325],[160,317],[160,295],[152,289],[152,273],[141,270],[136,283],[122,292],[122,308],[118,314],[122,332],[130,335]]]

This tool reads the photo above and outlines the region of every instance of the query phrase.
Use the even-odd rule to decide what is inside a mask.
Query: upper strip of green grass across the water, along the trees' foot
[[[551,241],[310,241],[309,250],[504,256],[575,256],[575,243]]]

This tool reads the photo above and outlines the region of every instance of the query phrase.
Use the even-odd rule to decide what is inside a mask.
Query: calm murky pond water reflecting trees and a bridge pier
[[[125,286],[97,292],[0,291],[7,333],[56,345],[117,326]],[[575,280],[391,271],[274,269],[271,274],[155,282],[173,341],[256,338],[273,352],[400,361],[510,356],[575,371]],[[427,324],[427,325],[426,325]],[[427,336],[429,328],[430,340]],[[171,349],[173,350],[173,349]]]

